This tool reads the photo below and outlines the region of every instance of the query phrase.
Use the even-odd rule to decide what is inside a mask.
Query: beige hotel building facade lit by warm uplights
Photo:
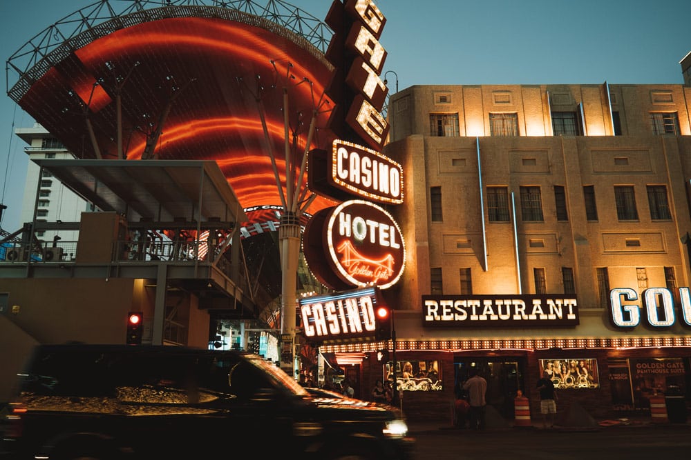
[[[389,210],[406,269],[388,299],[395,366],[415,370],[399,377],[408,417],[446,417],[475,366],[506,419],[520,394],[540,417],[544,374],[563,418],[659,417],[656,397],[689,400],[690,115],[682,85],[392,94],[384,153],[404,170]],[[392,364],[372,363],[381,345],[326,349],[361,353],[373,383]]]

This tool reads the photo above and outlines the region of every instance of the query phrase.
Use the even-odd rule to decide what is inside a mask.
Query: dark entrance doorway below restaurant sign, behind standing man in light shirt
[[[461,386],[468,379],[471,368],[480,369],[480,375],[487,381],[487,393],[485,400],[488,406],[492,406],[505,419],[513,419],[513,400],[518,390],[524,391],[523,370],[526,367],[522,357],[505,358],[480,358],[463,357],[456,358],[453,367],[455,369],[455,386]]]

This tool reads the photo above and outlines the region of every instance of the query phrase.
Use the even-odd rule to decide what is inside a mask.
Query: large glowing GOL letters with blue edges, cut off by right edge
[[[689,288],[679,288],[681,312],[685,326],[691,326],[691,295]],[[634,328],[641,323],[641,307],[625,301],[638,300],[638,293],[631,288],[609,291],[609,309],[612,323],[619,328]],[[650,288],[643,291],[647,310],[647,323],[654,328],[668,328],[676,322],[674,299],[668,288]]]

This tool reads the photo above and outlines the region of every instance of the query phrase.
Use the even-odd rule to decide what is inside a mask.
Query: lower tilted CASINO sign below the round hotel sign
[[[299,300],[305,337],[318,341],[375,337],[376,288],[306,297]]]

